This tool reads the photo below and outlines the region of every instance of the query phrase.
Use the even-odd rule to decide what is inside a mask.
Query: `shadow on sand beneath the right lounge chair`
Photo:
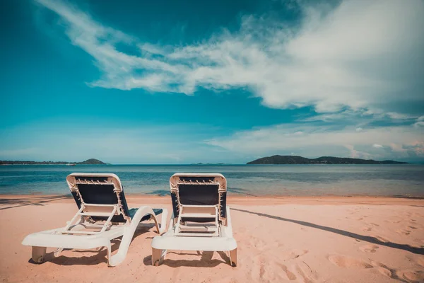
[[[168,251],[167,255],[194,255],[194,253],[175,253],[174,251]],[[217,265],[224,264],[228,265],[230,258],[224,252],[217,252],[222,260],[212,259],[213,251],[197,251],[197,255],[200,256],[199,260],[170,260],[167,258],[163,260],[161,265],[167,265],[169,267],[216,267]],[[152,256],[148,255],[143,259],[144,265],[152,265]]]

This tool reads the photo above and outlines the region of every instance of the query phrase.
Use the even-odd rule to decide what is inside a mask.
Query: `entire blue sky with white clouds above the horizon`
[[[424,160],[424,1],[2,1],[0,159]]]

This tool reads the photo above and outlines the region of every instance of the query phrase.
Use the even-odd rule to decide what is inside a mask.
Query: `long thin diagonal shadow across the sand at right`
[[[360,235],[360,234],[357,234],[357,233],[344,231],[344,230],[341,230],[341,229],[336,229],[336,228],[332,228],[332,227],[328,227],[328,226],[313,224],[313,223],[310,223],[310,222],[307,222],[307,221],[288,219],[288,218],[284,218],[284,217],[280,217],[280,216],[264,214],[264,213],[261,213],[261,212],[249,212],[249,210],[245,210],[245,209],[231,208],[231,210],[235,210],[237,212],[245,212],[245,213],[249,213],[249,214],[255,214],[257,216],[268,217],[268,218],[276,219],[276,220],[280,220],[280,221],[291,222],[291,223],[299,224],[299,225],[302,225],[302,226],[307,226],[307,227],[320,229],[320,230],[331,232],[331,233],[336,233],[338,235],[354,238],[354,239],[359,240],[359,241],[365,241],[365,242],[368,242],[368,243],[374,243],[376,245],[387,246],[389,248],[397,248],[399,250],[406,250],[406,251],[411,252],[411,253],[416,253],[417,255],[424,255],[424,248],[417,248],[417,247],[409,246],[409,245],[406,245],[406,244],[400,244],[400,243],[384,242],[384,241],[381,241],[378,238],[375,238],[375,237],[372,237],[372,236],[364,236],[364,235]]]

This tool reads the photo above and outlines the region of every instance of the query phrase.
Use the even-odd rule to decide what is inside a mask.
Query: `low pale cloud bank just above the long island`
[[[296,132],[302,131],[302,135]],[[236,132],[230,137],[206,141],[228,151],[252,155],[298,151],[302,156],[346,156],[355,158],[424,157],[424,132],[411,126],[335,129],[331,125],[276,125]],[[299,151],[299,147],[302,148]],[[348,151],[346,152],[346,149]],[[382,151],[384,149],[384,151]]]

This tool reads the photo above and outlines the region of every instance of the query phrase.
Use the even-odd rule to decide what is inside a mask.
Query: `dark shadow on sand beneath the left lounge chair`
[[[131,243],[134,241],[134,239],[137,236],[140,236],[143,233],[148,233],[152,228],[155,227],[155,224],[153,223],[142,223],[139,224],[139,227],[137,228],[136,232],[134,233],[134,236],[131,240]],[[111,250],[112,253],[114,253],[115,250],[119,249],[119,244],[121,243],[121,238],[116,238],[112,240],[112,246]],[[147,238],[153,238],[153,237],[147,237]],[[131,248],[131,246],[130,246]],[[100,263],[106,263],[107,264],[107,250],[105,247],[97,248],[93,250],[73,250],[73,249],[64,249],[64,250],[71,250],[72,253],[93,253],[91,256],[83,256],[83,257],[73,257],[73,256],[64,256],[60,255],[59,257],[54,256],[54,251],[47,253],[45,256],[45,262],[51,262],[55,265],[98,265]],[[30,258],[28,262],[33,263],[35,265],[40,265],[40,263],[34,262],[33,259]],[[45,263],[43,262],[43,263]]]

